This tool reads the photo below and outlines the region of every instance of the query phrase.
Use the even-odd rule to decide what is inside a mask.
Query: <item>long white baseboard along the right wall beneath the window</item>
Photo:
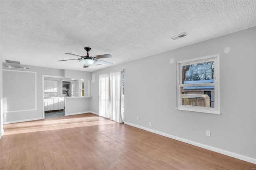
[[[218,153],[220,153],[220,154],[224,154],[224,155],[227,155],[227,156],[231,156],[231,157],[233,157],[233,158],[237,158],[237,159],[240,159],[240,160],[244,160],[244,161],[247,161],[247,162],[251,162],[251,163],[253,163],[253,164],[256,164],[256,159],[255,159],[255,158],[250,158],[250,157],[247,157],[247,156],[243,156],[243,155],[240,155],[240,154],[236,154],[236,153],[233,153],[233,152],[229,152],[229,151],[226,151],[226,150],[222,150],[222,149],[219,149],[219,148],[215,148],[215,147],[212,147],[212,146],[208,146],[208,145],[206,145],[206,144],[201,144],[201,143],[198,143],[198,142],[194,142],[194,141],[192,141],[192,140],[188,140],[188,139],[180,138],[180,137],[173,136],[173,135],[170,135],[170,134],[166,134],[166,133],[163,133],[163,132],[159,132],[159,131],[157,131],[157,130],[152,130],[152,129],[150,129],[150,128],[142,127],[142,126],[135,125],[135,124],[132,124],[132,123],[124,122],[124,124],[130,125],[130,126],[132,126],[132,127],[140,128],[140,129],[143,129],[143,130],[152,132],[152,133],[160,134],[160,135],[162,135],[162,136],[166,136],[166,137],[168,137],[168,138],[172,138],[172,139],[175,139],[175,140],[179,140],[179,141],[181,141],[181,142],[185,142],[185,143],[188,143],[188,144],[192,144],[192,145],[198,146],[198,147],[200,147],[200,148],[212,150],[212,151],[218,152]]]

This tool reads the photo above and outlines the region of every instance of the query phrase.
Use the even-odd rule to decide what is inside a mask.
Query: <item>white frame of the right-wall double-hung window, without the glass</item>
[[[177,110],[220,114],[220,55],[207,55],[177,62]],[[182,84],[182,66],[214,61],[214,83]],[[182,105],[181,87],[214,85],[214,108]]]

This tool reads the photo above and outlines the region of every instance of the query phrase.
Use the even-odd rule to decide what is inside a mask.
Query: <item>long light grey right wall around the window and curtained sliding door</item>
[[[216,53],[221,115],[176,110],[175,62]],[[255,67],[256,27],[94,71],[90,110],[99,113],[99,74],[125,69],[126,124],[256,163]]]

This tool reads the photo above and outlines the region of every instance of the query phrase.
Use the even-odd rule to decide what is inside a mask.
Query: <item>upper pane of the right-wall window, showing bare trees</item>
[[[182,84],[214,83],[214,61],[182,66]]]

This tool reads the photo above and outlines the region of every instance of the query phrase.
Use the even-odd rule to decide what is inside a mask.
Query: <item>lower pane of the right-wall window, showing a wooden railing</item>
[[[181,87],[182,105],[214,108],[214,86]]]

